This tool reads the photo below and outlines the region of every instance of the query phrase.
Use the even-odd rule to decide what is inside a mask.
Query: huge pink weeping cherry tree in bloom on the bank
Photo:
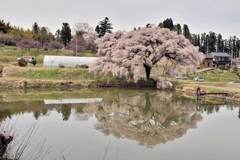
[[[97,54],[101,57],[90,65],[89,70],[112,73],[119,78],[130,79],[131,72],[136,74],[137,68],[143,67],[145,74],[138,79],[149,79],[153,65],[159,61],[170,61],[178,67],[196,66],[197,62],[204,59],[198,47],[183,35],[153,25],[129,32],[106,34],[95,43],[98,46]]]

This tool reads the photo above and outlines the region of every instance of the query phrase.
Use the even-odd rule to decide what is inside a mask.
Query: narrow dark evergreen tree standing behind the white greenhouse
[[[67,44],[71,41],[72,35],[71,35],[71,28],[68,23],[62,23],[62,30],[61,30],[61,41],[66,47]]]

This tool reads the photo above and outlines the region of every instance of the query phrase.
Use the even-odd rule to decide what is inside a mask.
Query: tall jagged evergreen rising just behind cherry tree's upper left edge
[[[95,31],[98,33],[98,37],[102,37],[106,33],[112,33],[111,29],[113,29],[112,23],[110,23],[110,20],[106,17],[103,21],[98,23]]]

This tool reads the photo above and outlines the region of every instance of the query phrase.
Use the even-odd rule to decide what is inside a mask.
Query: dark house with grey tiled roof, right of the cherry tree
[[[231,56],[224,52],[212,52],[213,67],[231,66]]]

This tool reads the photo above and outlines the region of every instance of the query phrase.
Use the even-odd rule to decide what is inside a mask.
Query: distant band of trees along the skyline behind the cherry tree
[[[105,18],[105,20],[99,22],[99,24],[105,23],[108,27],[110,26],[110,29],[113,29],[112,23],[110,23],[108,18]],[[147,24],[146,27],[148,27],[148,25],[149,24]],[[228,39],[223,39],[221,33],[215,33],[213,31],[199,34],[191,33],[187,24],[182,26],[180,24],[174,24],[171,18],[167,18],[163,22],[160,22],[158,26],[160,28],[168,28],[171,31],[175,31],[178,34],[184,35],[194,46],[199,46],[199,51],[203,52],[204,54],[209,54],[211,52],[226,52],[233,56],[233,58],[239,57],[240,40],[236,36],[230,36]],[[101,29],[100,27],[101,25],[96,26],[95,31],[97,31],[97,33],[93,35],[92,33],[94,31],[92,27],[88,25],[88,23],[78,23],[73,26],[72,30],[75,31],[77,38],[79,41],[81,41],[79,46],[82,47],[79,48],[79,50],[84,51],[84,49],[96,49],[93,42],[94,39],[100,37],[100,33],[98,32],[99,29]],[[102,27],[104,28],[104,26]],[[140,27],[138,29],[140,29]],[[137,29],[134,28],[134,30]],[[87,35],[88,33],[90,35],[90,32],[91,43],[89,42],[89,37],[86,38],[86,36],[83,36],[84,34]],[[48,48],[51,47],[48,44],[56,45],[56,43],[59,42],[65,47],[69,46],[69,49],[75,49],[73,45],[75,43],[74,36],[71,34],[71,28],[68,23],[62,23],[62,29],[58,29],[55,34],[53,34],[50,32],[48,27],[40,27],[36,22],[32,25],[32,29],[23,29],[22,27],[11,25],[10,22],[4,22],[4,20],[0,20],[0,46],[16,46],[17,43],[22,39],[38,41],[40,43],[37,45],[38,47],[41,46]],[[72,45],[70,45],[71,43]],[[61,45],[58,44],[58,49],[59,46]]]

